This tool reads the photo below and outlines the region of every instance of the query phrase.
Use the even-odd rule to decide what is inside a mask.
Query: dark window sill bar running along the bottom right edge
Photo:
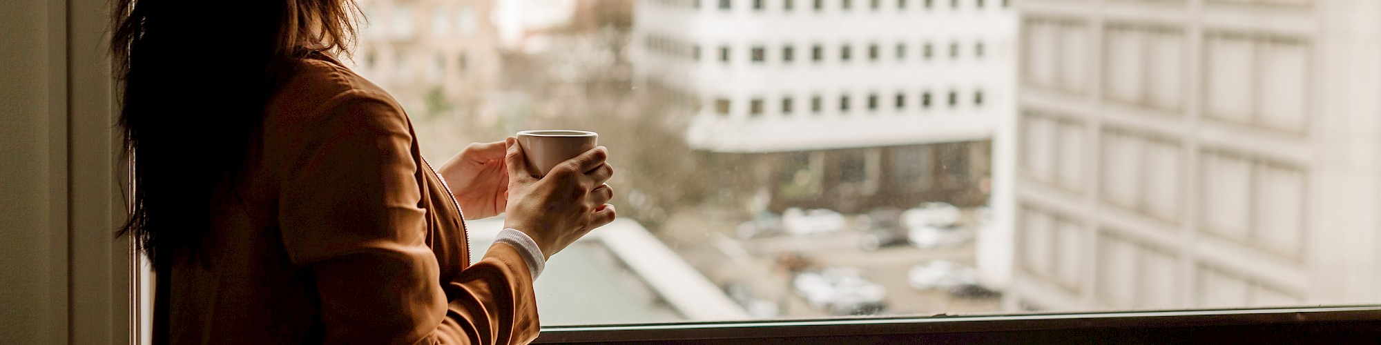
[[[1084,312],[974,316],[884,316],[809,320],[646,323],[543,327],[533,344],[707,342],[760,344],[795,341],[878,344],[936,341],[1012,342],[1172,342],[1222,341],[1228,337],[1282,342],[1298,339],[1345,344],[1374,341],[1381,305],[1275,309],[1199,309],[1156,312]],[[1246,338],[1235,338],[1246,339]]]

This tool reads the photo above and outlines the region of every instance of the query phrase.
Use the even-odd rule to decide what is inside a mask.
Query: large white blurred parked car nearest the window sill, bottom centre
[[[801,272],[791,287],[811,308],[830,315],[873,315],[887,309],[887,290],[851,268]]]

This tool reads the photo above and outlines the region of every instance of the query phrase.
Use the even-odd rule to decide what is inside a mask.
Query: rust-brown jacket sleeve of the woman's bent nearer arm
[[[494,244],[449,282],[427,246],[418,163],[402,109],[352,90],[291,126],[280,148],[280,235],[309,268],[327,344],[523,344],[537,337],[532,276]]]

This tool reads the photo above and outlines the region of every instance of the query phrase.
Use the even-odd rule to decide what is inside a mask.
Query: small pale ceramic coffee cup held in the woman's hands
[[[557,164],[594,149],[598,139],[599,134],[592,131],[519,131],[518,148],[528,157],[528,167],[537,177],[545,177]]]

